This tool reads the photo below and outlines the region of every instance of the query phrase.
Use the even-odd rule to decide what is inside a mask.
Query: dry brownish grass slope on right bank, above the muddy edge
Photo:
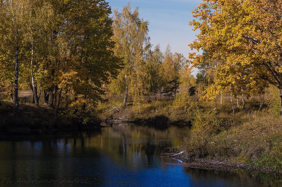
[[[281,170],[282,121],[266,115],[253,117],[253,120],[211,137],[209,141],[215,144],[208,147],[209,157],[232,157],[234,162]]]

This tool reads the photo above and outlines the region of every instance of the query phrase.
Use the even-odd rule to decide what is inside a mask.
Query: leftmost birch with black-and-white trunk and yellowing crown
[[[14,103],[19,112],[19,66],[27,61],[28,1],[0,1],[0,50],[4,62],[14,65]]]

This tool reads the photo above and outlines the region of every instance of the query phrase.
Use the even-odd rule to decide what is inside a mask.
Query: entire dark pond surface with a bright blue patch
[[[282,186],[274,174],[170,165],[180,161],[166,153],[178,151],[188,127],[107,125],[88,132],[0,134],[0,186]]]

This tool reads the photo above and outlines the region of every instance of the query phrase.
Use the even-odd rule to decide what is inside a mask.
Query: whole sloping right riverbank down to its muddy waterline
[[[195,126],[184,141],[186,163],[264,172],[282,172],[282,121],[260,111],[251,119],[217,133]]]

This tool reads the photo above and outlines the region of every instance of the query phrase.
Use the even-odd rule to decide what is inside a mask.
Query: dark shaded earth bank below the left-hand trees
[[[15,114],[13,103],[2,102],[0,106],[0,130],[5,132],[57,131],[77,129],[99,129],[101,121],[93,118],[83,123],[82,116],[69,115],[59,111],[54,119],[55,109],[34,104],[20,105],[20,113]]]

